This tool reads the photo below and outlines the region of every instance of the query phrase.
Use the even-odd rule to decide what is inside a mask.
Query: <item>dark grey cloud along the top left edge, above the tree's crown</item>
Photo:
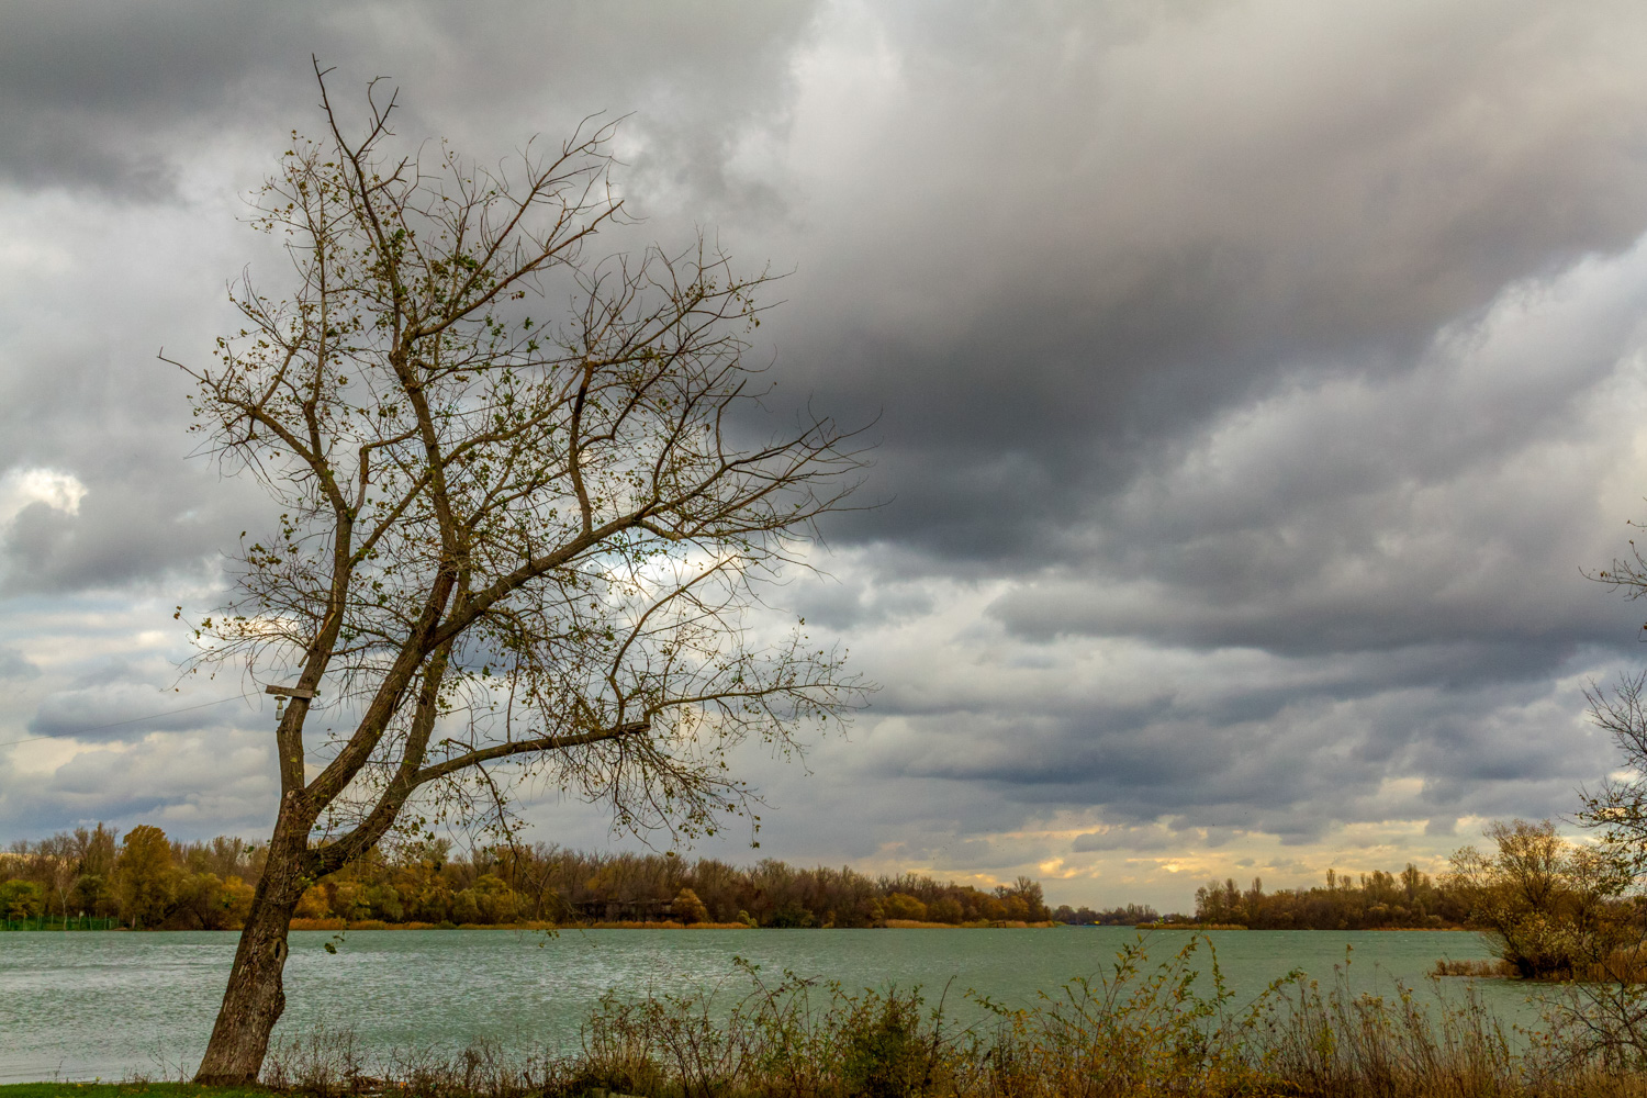
[[[782,44],[809,13],[804,3],[23,7],[0,43],[0,178],[175,199],[181,163],[224,132],[277,142],[283,127],[318,127],[316,54],[336,69],[346,119],[362,110],[362,84],[387,76],[417,92],[405,97],[410,127],[446,122],[496,138],[468,150],[481,156],[544,125],[558,140],[583,115],[651,107],[642,132],[657,155],[646,163],[670,174],[659,183],[715,189],[726,128],[771,99],[749,94],[749,81],[781,79]],[[720,63],[705,66],[712,54]]]

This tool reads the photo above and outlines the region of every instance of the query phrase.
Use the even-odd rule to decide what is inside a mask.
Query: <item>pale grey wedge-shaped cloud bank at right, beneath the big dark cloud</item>
[[[1471,642],[1571,650],[1635,614],[1579,568],[1622,548],[1603,499],[1642,375],[1632,252],[1512,288],[1402,375],[1327,377],[1229,412],[1108,499],[1080,566],[995,612],[1107,632],[1321,652]],[[1617,505],[1599,527],[1598,502]],[[1079,542],[1077,542],[1079,543]],[[1094,583],[1092,573],[1102,576]]]

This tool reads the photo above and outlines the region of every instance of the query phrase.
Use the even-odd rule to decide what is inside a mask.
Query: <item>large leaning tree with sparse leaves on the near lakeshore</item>
[[[394,97],[367,89],[352,140],[324,76],[328,133],[293,135],[255,221],[295,281],[236,283],[245,326],[183,367],[206,448],[280,507],[198,658],[292,700],[203,1083],[257,1077],[298,899],[395,828],[504,821],[532,775],[614,826],[712,831],[749,807],[728,747],[789,751],[868,688],[749,621],[863,464],[828,420],[749,435],[768,277],[702,240],[590,258],[623,206],[611,125],[492,171],[390,156]]]

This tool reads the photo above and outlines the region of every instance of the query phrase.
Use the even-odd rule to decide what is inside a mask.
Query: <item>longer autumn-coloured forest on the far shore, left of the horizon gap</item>
[[[104,825],[76,828],[0,854],[0,917],[91,915],[135,928],[229,930],[240,925],[264,848],[232,838],[178,843],[137,826],[117,843]],[[1133,909],[1138,912],[1148,909]],[[1079,914],[1066,922],[1115,915]],[[1153,915],[1153,912],[1148,912]],[[1085,915],[1089,919],[1080,919]],[[455,854],[446,841],[374,851],[303,896],[295,925],[509,925],[540,922],[884,927],[899,924],[1046,924],[1041,886],[977,889],[924,876],[796,869],[766,859],[736,868],[712,858],[590,854],[555,846]]]

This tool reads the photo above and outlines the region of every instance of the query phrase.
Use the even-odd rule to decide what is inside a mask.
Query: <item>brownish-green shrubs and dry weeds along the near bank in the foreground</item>
[[[311,1034],[277,1047],[264,1078],[318,1098],[1647,1095],[1647,1045],[1581,996],[1512,1039],[1474,988],[1354,994],[1346,960],[1326,988],[1295,973],[1237,1006],[1204,938],[1164,963],[1140,942],[1100,978],[1024,1009],[972,993],[931,1003],[917,989],[855,994],[743,971],[743,989],[609,994],[572,1054],[483,1044],[369,1063],[352,1040]],[[957,1014],[982,1021],[962,1026]]]

